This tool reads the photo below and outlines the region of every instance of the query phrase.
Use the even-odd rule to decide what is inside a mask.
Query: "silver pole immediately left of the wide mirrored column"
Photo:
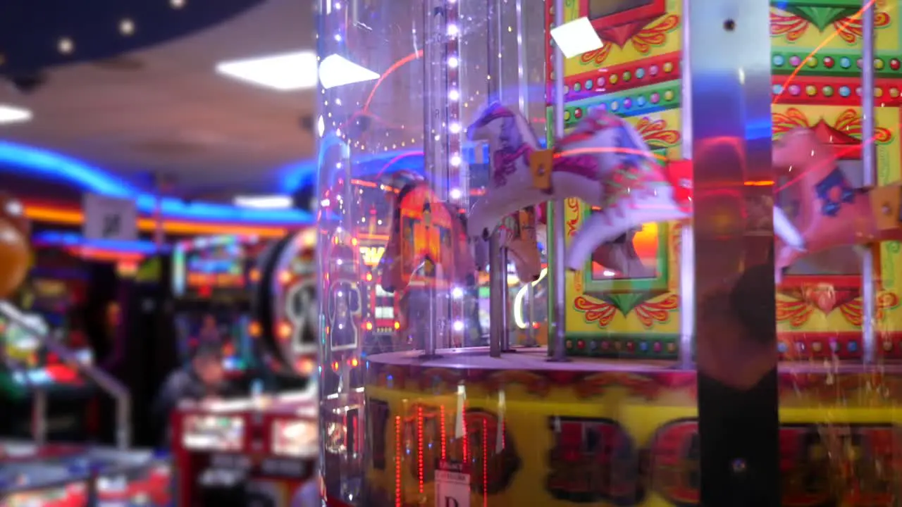
[[[689,12],[689,1],[683,0],[683,13]],[[684,14],[685,15],[685,14]],[[683,69],[692,69],[692,37],[688,30],[683,30]],[[692,113],[692,73],[683,72],[681,83],[682,104],[684,114]],[[683,159],[692,160],[692,122],[683,121],[683,143],[681,144]],[[692,221],[686,220],[680,229],[679,249],[679,297],[685,303],[695,301],[695,237]],[[679,366],[683,369],[693,367],[693,336],[695,336],[695,305],[683,304],[679,309]]]

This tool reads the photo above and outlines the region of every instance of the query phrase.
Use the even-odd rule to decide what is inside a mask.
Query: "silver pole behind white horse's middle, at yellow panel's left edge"
[[[555,0],[555,26],[564,24],[564,0]],[[555,50],[555,137],[564,135],[564,53]],[[564,269],[564,200],[557,199],[552,205],[554,239],[551,244],[554,270],[554,347],[551,350],[553,361],[566,361],[566,283]]]

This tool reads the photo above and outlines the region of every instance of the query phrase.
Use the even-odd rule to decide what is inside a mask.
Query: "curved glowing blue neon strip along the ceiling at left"
[[[72,182],[90,192],[117,198],[133,198],[138,210],[152,214],[156,197],[142,192],[124,180],[110,175],[96,166],[25,144],[0,141],[0,171],[25,175],[41,174],[52,180]],[[175,198],[163,198],[163,217],[212,222],[253,223],[270,226],[311,224],[314,217],[298,209],[249,209],[213,203],[191,203]]]

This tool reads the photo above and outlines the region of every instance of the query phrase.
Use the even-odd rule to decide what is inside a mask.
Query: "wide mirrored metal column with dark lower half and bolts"
[[[695,162],[695,347],[702,505],[779,505],[769,3],[693,0],[686,16]],[[760,239],[758,241],[761,241]]]

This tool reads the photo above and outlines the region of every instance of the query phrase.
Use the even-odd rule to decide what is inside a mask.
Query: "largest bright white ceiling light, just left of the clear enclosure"
[[[223,61],[216,72],[281,91],[317,86],[317,54],[297,51],[246,60]]]

